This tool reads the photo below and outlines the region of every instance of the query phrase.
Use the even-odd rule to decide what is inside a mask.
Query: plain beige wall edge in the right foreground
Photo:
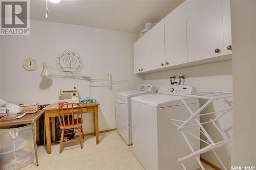
[[[233,166],[256,166],[256,1],[231,1]],[[244,80],[244,81],[241,81]]]

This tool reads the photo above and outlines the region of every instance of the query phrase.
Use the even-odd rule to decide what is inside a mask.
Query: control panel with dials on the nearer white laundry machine
[[[161,86],[158,90],[159,94],[191,94],[195,93],[196,89],[194,87],[184,86],[184,85],[166,85]]]

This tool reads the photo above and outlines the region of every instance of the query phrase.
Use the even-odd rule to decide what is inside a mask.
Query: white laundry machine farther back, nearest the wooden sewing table
[[[131,98],[138,95],[156,93],[150,84],[139,84],[135,90],[116,93],[116,129],[127,144],[132,144],[132,113]]]

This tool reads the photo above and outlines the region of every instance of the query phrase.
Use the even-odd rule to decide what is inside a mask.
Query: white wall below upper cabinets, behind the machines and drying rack
[[[197,66],[190,66],[185,68],[166,70],[161,72],[155,72],[151,74],[145,75],[145,82],[156,85],[156,88],[159,89],[162,85],[168,85],[169,77],[176,75],[176,77],[186,75],[185,85],[196,87],[198,92],[202,91],[224,91],[224,92],[232,92],[232,63],[231,60],[202,64]],[[205,101],[200,101],[200,105],[202,105]],[[228,99],[226,101],[228,105],[232,103],[232,99]],[[219,104],[214,102],[209,105],[207,109],[203,110],[201,113],[224,110],[224,108]],[[201,117],[201,122],[206,122],[209,120],[211,116],[203,116]],[[222,118],[220,118],[217,122],[217,125],[224,130],[227,136],[232,136],[232,119],[229,114],[226,114]],[[223,138],[219,135],[219,133],[215,130],[214,126],[207,125],[204,126],[205,129],[209,132],[211,136],[214,136],[214,141],[220,141]],[[203,136],[201,135],[201,138]],[[205,146],[203,142],[201,142],[201,147]],[[217,150],[217,154],[220,156],[223,162],[225,162],[226,167],[230,167],[231,164],[231,152],[229,147],[226,145],[225,147],[221,147]],[[201,157],[211,162],[212,164],[222,168],[221,164],[215,158],[212,153],[202,154]]]

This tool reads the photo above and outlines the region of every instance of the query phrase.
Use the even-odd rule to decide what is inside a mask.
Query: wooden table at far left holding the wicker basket
[[[39,110],[36,113],[26,114],[22,118],[11,119],[11,120],[0,120],[0,127],[31,124],[34,149],[35,149],[36,166],[38,166],[38,158],[37,158],[37,146],[36,146],[36,137],[35,137],[35,123],[36,123],[36,120],[38,120],[43,114],[44,114],[44,110]]]

